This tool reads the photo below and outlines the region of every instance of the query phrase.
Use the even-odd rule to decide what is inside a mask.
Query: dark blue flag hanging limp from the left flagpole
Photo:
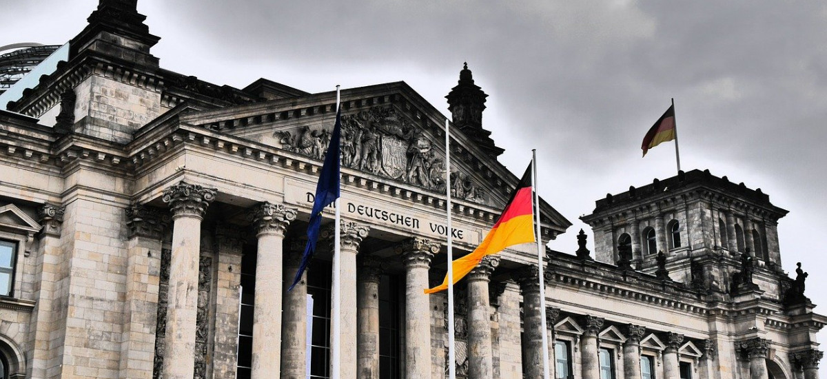
[[[322,174],[319,175],[318,185],[316,185],[316,198],[313,201],[313,211],[310,213],[308,224],[308,244],[307,247],[304,247],[304,255],[302,255],[302,262],[299,264],[299,271],[296,272],[293,284],[290,285],[288,290],[293,290],[293,287],[301,281],[302,273],[307,269],[310,258],[313,257],[313,252],[316,251],[318,229],[322,225],[322,210],[339,198],[339,140],[341,136],[342,110],[337,109],[336,124],[333,126],[330,145],[327,146],[327,153],[324,156]]]

